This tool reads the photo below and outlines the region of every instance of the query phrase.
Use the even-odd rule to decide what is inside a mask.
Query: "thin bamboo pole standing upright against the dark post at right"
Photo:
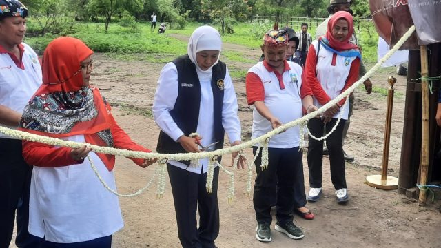
[[[427,48],[421,46],[421,96],[422,96],[422,138],[421,138],[421,178],[420,185],[426,185],[427,172],[429,169],[429,83],[426,78],[429,76],[429,65],[427,62]],[[427,189],[420,189],[418,205],[426,204]]]

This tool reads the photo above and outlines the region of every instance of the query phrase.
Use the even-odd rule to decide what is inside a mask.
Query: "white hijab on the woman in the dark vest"
[[[207,50],[216,50],[220,52],[221,48],[222,41],[220,40],[220,34],[216,29],[205,25],[194,30],[188,41],[187,53],[190,60],[196,65],[199,81],[212,79],[213,66],[218,63],[219,57],[216,63],[204,71],[196,62],[196,53]]]

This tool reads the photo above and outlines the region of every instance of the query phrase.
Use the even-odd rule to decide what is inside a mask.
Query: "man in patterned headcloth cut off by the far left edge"
[[[28,10],[17,0],[0,0],[0,125],[17,128],[21,113],[41,85],[37,54],[23,43]],[[17,210],[17,247],[37,247],[28,233],[32,167],[21,140],[0,133],[0,247],[9,247]],[[32,237],[32,238],[31,238]]]

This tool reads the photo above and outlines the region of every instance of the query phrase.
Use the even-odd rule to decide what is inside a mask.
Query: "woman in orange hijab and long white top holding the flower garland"
[[[43,54],[43,85],[23,111],[21,130],[68,141],[150,152],[134,143],[116,124],[110,105],[89,85],[92,50],[82,41],[61,37]],[[29,232],[43,238],[42,247],[110,247],[123,227],[112,155],[87,146],[77,149],[23,141],[23,157],[34,165],[30,192]],[[154,160],[132,158],[141,167]]]

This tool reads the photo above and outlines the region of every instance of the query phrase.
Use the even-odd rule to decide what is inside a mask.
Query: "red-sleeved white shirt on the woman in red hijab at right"
[[[358,70],[360,69],[360,59],[356,56],[345,57],[331,52],[320,46],[318,41],[313,41],[309,47],[309,53],[305,65],[305,79],[314,96],[314,105],[322,107],[336,96],[345,92],[348,87],[358,80]],[[345,104],[345,99],[339,102],[341,106]],[[340,115],[340,109],[334,118]],[[347,120],[349,107],[345,107],[342,118]]]

